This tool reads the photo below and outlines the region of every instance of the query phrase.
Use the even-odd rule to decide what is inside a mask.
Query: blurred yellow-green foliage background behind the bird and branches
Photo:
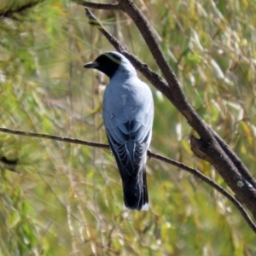
[[[256,2],[135,3],[189,102],[256,177]],[[91,11],[160,73],[127,15]],[[107,143],[108,78],[83,66],[113,47],[83,6],[2,0],[0,15],[0,126]],[[186,119],[151,89],[152,151],[229,189],[192,154]],[[128,212],[109,150],[0,132],[0,255],[255,255],[255,234],[230,201],[177,167],[154,159],[147,166],[150,209]]]

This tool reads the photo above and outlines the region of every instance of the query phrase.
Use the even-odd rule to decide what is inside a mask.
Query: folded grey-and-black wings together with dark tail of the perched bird
[[[113,114],[110,116],[104,121],[108,142],[123,181],[125,206],[142,210],[148,205],[145,163],[151,140],[153,113],[125,122]]]

